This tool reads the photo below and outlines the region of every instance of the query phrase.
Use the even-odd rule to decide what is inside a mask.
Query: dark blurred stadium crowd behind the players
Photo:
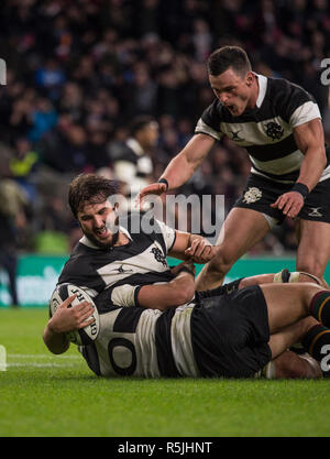
[[[106,174],[122,189],[160,177],[213,100],[206,59],[223,44],[243,46],[256,73],[310,91],[329,139],[327,0],[1,2],[0,220],[13,223],[21,251],[65,252],[76,242],[66,196],[78,173]],[[249,171],[245,151],[224,140],[180,193],[224,195],[228,211]],[[252,254],[295,248],[288,220]]]

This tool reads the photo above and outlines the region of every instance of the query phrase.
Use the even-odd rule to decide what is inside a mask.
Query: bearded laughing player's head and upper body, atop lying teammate
[[[147,231],[143,230],[142,212],[119,219],[118,204],[112,197],[119,197],[114,181],[81,174],[72,182],[68,203],[84,236],[66,262],[58,284],[82,286],[91,297],[110,288],[116,297],[118,287],[174,280],[167,255],[189,263],[206,263],[212,258],[215,247],[201,236],[177,231],[155,219]],[[184,274],[179,278],[186,277]],[[168,306],[191,298],[184,278],[180,284],[182,297],[167,295]]]

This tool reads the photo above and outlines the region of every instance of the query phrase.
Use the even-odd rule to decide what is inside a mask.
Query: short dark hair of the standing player
[[[245,51],[240,46],[222,46],[213,51],[208,58],[208,73],[212,76],[223,74],[232,68],[238,75],[251,72],[251,63]]]

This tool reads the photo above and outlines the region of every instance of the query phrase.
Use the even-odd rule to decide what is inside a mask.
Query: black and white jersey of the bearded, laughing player
[[[150,231],[141,230],[143,215],[136,212],[120,220],[120,231],[130,242],[125,245],[100,249],[85,236],[77,243],[64,265],[58,284],[72,283],[85,289],[91,298],[106,288],[111,291],[109,305],[135,304],[138,287],[173,278],[167,264],[167,253],[176,239],[176,230],[158,220],[152,220]]]

